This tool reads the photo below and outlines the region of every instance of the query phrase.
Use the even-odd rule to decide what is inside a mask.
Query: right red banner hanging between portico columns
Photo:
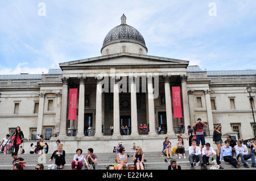
[[[180,87],[172,87],[172,99],[174,102],[174,117],[182,117]]]

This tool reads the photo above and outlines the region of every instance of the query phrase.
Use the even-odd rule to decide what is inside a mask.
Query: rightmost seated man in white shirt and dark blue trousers
[[[238,158],[241,158],[241,162],[246,168],[249,168],[249,166],[245,161],[249,158],[251,158],[251,167],[256,167],[254,153],[250,153],[250,154],[248,153],[247,146],[242,144],[242,140],[237,141],[236,155],[237,155],[237,160]]]

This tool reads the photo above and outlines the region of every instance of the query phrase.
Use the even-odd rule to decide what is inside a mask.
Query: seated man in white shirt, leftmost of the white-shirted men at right
[[[200,161],[200,165],[201,165],[201,169],[204,170],[204,162],[203,162],[203,158],[201,155],[201,151],[199,146],[196,146],[196,141],[192,141],[192,146],[189,146],[189,162],[191,164],[191,169],[194,170],[194,164],[193,161],[195,159],[195,161]]]

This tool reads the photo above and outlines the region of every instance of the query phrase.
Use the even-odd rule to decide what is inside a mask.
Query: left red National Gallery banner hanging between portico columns
[[[76,119],[77,89],[69,89],[68,119]]]

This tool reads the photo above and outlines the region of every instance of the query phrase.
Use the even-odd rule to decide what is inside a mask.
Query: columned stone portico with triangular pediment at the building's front
[[[108,64],[106,64],[108,61]],[[137,62],[136,65],[132,62]],[[121,126],[127,126],[126,134],[137,137],[139,125],[147,125],[149,136],[156,136],[161,126],[168,136],[175,135],[174,127],[190,124],[188,106],[182,106],[184,116],[173,117],[172,86],[180,86],[182,102],[188,102],[186,68],[188,61],[152,57],[134,53],[116,53],[109,56],[64,62],[63,95],[61,104],[60,136],[67,135],[68,92],[78,89],[77,138],[85,137],[90,126],[94,137],[102,137],[113,125],[114,137],[122,135]],[[85,103],[86,102],[86,103]],[[183,104],[184,105],[184,104]],[[159,113],[166,118],[159,120]],[[92,115],[87,123],[85,115]],[[72,127],[72,125],[71,125]]]

